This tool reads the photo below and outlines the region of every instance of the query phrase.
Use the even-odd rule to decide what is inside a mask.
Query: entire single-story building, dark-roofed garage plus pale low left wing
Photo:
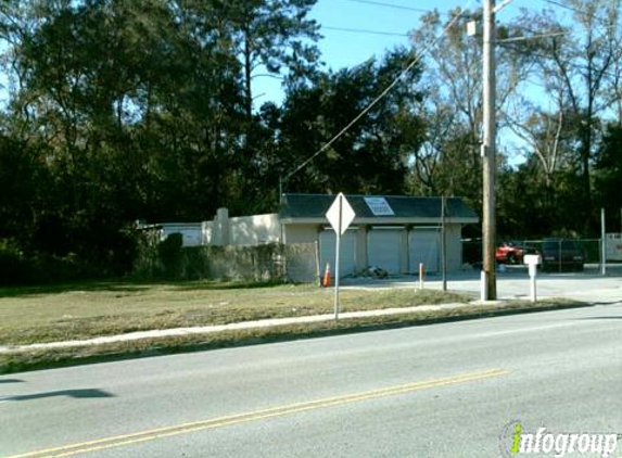
[[[326,213],[334,202],[328,194],[283,194],[279,213],[229,217],[219,208],[212,221],[163,224],[165,238],[183,234],[185,245],[285,245],[316,244],[309,265],[334,272],[335,234]],[[346,195],[356,216],[341,239],[341,276],[356,276],[370,266],[389,273],[416,273],[419,264],[428,272],[441,268],[442,199],[393,195]],[[462,266],[461,230],[479,221],[459,198],[445,200],[447,271]],[[315,270],[315,269],[314,269]],[[315,277],[316,271],[310,273]]]

